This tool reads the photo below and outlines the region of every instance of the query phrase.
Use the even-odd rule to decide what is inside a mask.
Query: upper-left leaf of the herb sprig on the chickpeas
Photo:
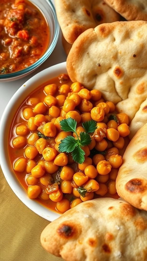
[[[64,119],[60,121],[60,125],[61,125],[61,130],[72,131],[76,133],[77,122],[75,121],[75,119],[72,119],[71,117]]]

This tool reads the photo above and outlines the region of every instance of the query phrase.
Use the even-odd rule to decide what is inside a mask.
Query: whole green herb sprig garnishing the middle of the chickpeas
[[[73,118],[67,118],[60,121],[61,130],[65,132],[74,132],[76,134],[76,139],[69,135],[59,144],[60,152],[67,152],[72,155],[75,162],[83,163],[85,152],[81,147],[86,146],[91,143],[91,137],[88,133],[94,132],[97,128],[97,123],[93,120],[82,123],[83,128],[86,132],[80,132],[80,137],[76,132],[77,122]]]

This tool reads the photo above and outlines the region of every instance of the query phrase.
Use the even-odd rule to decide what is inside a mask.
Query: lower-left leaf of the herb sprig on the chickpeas
[[[59,151],[67,153],[72,152],[73,150],[75,150],[76,146],[78,146],[77,142],[78,141],[72,136],[67,136],[66,138],[61,140],[59,144]]]

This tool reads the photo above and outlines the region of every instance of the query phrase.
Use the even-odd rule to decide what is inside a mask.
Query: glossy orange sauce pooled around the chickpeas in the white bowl
[[[64,75],[64,74],[63,74]],[[61,76],[61,75],[60,75]],[[68,84],[68,85],[71,85],[72,82],[70,81],[70,79],[68,78],[68,75],[64,75],[67,77],[67,81],[63,81],[62,80],[62,77],[56,77],[56,78],[53,78],[51,80],[49,80],[48,82],[45,82],[44,84],[42,84],[41,86],[39,86],[34,92],[32,92],[30,94],[30,96],[28,96],[24,102],[21,104],[21,106],[18,108],[18,111],[14,114],[15,117],[13,118],[12,120],[12,124],[11,124],[11,128],[9,130],[9,141],[8,141],[8,150],[9,150],[9,158],[10,158],[10,161],[11,161],[11,164],[13,166],[13,169],[14,169],[14,163],[16,162],[17,159],[21,158],[21,157],[25,157],[25,149],[28,145],[26,145],[24,148],[20,148],[20,149],[16,149],[13,147],[12,145],[12,140],[17,136],[16,135],[16,126],[18,126],[20,123],[24,123],[27,125],[27,120],[24,119],[24,117],[22,116],[22,111],[27,108],[27,107],[30,107],[32,108],[32,105],[30,105],[30,100],[31,98],[36,98],[38,100],[38,102],[43,102],[44,101],[44,98],[46,97],[46,93],[44,92],[44,87],[48,84],[56,84],[58,87],[60,87],[61,85],[63,85],[64,83],[65,84]],[[63,78],[64,79],[64,78]],[[56,92],[55,94],[55,97],[57,95],[59,95],[59,90]],[[30,132],[26,138],[28,139],[29,136],[32,134],[32,133],[37,133],[38,131],[33,131],[33,132]],[[127,137],[126,137],[127,138]],[[55,145],[55,138],[48,138],[48,143],[49,143],[49,146],[50,147],[54,147]],[[127,142],[125,142],[125,147],[126,145],[128,144]],[[124,147],[124,149],[125,149]],[[121,151],[120,151],[121,152]],[[121,153],[123,154],[123,152]],[[39,154],[34,158],[35,161],[39,161],[40,159],[43,159],[43,156],[42,154]],[[73,167],[74,169],[76,169],[76,171],[80,171],[78,169],[78,163],[74,163],[72,165],[70,165],[70,167]],[[59,167],[58,171],[56,171],[54,174],[52,174],[52,177],[54,179],[54,182],[56,182],[56,180],[60,177],[60,171],[61,171],[61,167]],[[26,182],[26,178],[27,176],[29,175],[29,173],[26,172],[26,170],[24,172],[17,172],[14,170],[14,173],[16,175],[16,177],[18,178],[19,182],[21,183],[21,185],[25,188],[26,190],[26,193],[27,193],[27,188],[28,188],[28,185],[27,185],[27,182]],[[39,180],[39,179],[38,179]],[[109,182],[109,180],[108,180]],[[107,182],[107,183],[108,183]],[[41,184],[39,184],[39,186],[41,187],[41,189],[45,189],[45,187],[43,187]],[[69,200],[72,200],[72,198],[74,197],[74,195],[71,193],[71,194],[64,194],[64,198],[67,198]],[[99,198],[99,197],[102,197],[100,195],[97,195],[95,194],[94,195],[94,198]],[[119,198],[118,194],[116,193],[115,195],[110,195],[109,193],[107,193],[104,197],[111,197],[111,198]],[[57,209],[56,209],[56,202],[53,202],[52,200],[48,199],[48,200],[42,200],[41,198],[37,197],[37,199],[34,199],[36,201],[38,201],[39,203],[41,203],[42,205],[44,205],[45,207],[47,207],[48,209],[51,209],[53,211],[57,211],[59,212]]]

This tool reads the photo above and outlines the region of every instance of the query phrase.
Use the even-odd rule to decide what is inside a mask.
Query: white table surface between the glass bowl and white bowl
[[[52,0],[52,2],[54,3],[54,0]],[[65,62],[66,57],[67,56],[65,54],[65,51],[64,51],[62,43],[61,43],[61,30],[60,30],[59,39],[58,39],[55,49],[53,50],[53,52],[49,56],[49,58],[37,70],[35,70],[35,72],[33,72],[19,80],[10,81],[10,82],[0,82],[0,119],[2,117],[5,106],[7,105],[7,103],[13,96],[13,94],[18,90],[18,88],[22,84],[24,84],[33,75],[42,71],[43,69],[46,69],[57,63]]]

